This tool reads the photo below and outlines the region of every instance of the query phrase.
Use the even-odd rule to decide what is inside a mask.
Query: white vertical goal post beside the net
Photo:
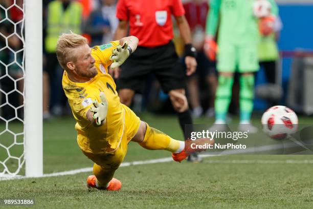
[[[42,162],[42,1],[25,5],[25,174],[39,177]]]

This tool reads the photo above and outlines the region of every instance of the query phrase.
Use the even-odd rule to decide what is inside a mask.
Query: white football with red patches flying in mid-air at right
[[[296,113],[285,106],[274,106],[262,115],[262,126],[265,134],[273,139],[282,140],[298,129]]]

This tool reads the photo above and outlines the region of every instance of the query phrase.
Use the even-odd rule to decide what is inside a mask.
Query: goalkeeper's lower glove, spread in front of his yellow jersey
[[[91,107],[90,111],[94,113],[94,120],[97,126],[101,126],[101,122],[105,120],[106,115],[107,115],[107,107],[108,103],[105,97],[105,94],[103,92],[100,93],[100,99],[101,103],[99,103],[96,99],[94,101],[94,106]]]

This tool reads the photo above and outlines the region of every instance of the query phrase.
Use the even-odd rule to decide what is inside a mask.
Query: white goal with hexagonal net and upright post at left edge
[[[42,175],[40,2],[0,0],[0,179]]]

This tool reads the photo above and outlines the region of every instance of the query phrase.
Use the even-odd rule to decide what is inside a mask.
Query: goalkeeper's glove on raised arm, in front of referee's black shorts
[[[110,56],[110,60],[113,61],[111,69],[120,67],[129,57],[130,50],[128,48],[130,47],[128,47],[128,43],[125,41],[123,46],[118,45],[117,48],[112,51],[112,55]]]

